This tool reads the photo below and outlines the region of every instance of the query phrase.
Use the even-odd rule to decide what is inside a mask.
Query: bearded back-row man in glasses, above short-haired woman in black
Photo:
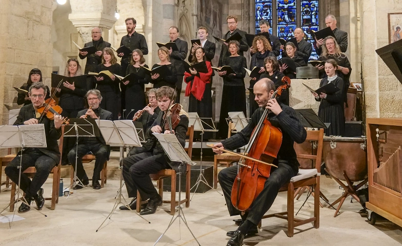
[[[239,48],[238,48],[238,54],[241,56],[244,56],[244,52],[249,50],[249,46],[247,45],[247,39],[246,39],[246,32],[241,31],[237,28],[237,17],[234,15],[229,15],[226,17],[226,21],[228,22],[228,27],[229,31],[223,36],[224,40],[229,39],[233,34],[238,32],[240,36],[242,36],[242,40],[240,40],[239,43]],[[220,49],[220,55],[219,55],[219,63],[218,66],[222,67],[223,65],[223,60],[227,58],[228,56],[231,55],[231,52],[229,51],[229,44],[224,42],[222,45],[222,49]]]

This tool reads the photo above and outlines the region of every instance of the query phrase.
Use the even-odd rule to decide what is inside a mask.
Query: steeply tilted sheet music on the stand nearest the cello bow
[[[174,134],[153,133],[153,135],[159,140],[160,145],[162,145],[171,161],[184,162],[190,165],[196,164],[195,162],[191,161],[190,157],[187,155],[183,146],[180,144]]]

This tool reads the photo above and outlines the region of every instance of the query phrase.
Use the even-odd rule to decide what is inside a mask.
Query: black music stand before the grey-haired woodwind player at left
[[[73,194],[72,190],[74,190],[74,187],[79,185],[84,188],[89,187],[83,185],[82,180],[79,180],[77,177],[77,161],[78,161],[78,137],[99,137],[99,128],[97,127],[95,123],[95,119],[93,118],[75,118],[75,119],[70,119],[70,125],[66,125],[64,128],[64,137],[75,137],[75,169],[74,169],[74,178],[73,178],[73,183],[70,184],[67,188],[69,189],[70,193],[67,196],[67,199],[70,197],[71,194]],[[79,182],[77,182],[77,180]],[[66,190],[65,188],[64,190]],[[92,190],[96,191],[96,190]],[[96,191],[98,192],[98,191]]]

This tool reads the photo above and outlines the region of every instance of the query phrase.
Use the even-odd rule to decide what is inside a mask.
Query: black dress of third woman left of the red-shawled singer
[[[114,64],[106,67],[104,64],[99,64],[96,66],[96,72],[108,70],[111,73],[117,75],[124,75],[122,68],[119,64]],[[96,81],[96,89],[100,91],[102,95],[102,101],[100,101],[100,107],[106,109],[113,113],[113,120],[118,119],[119,112],[119,99],[120,99],[120,87],[119,81],[115,79],[114,81],[109,77],[105,76],[104,80]]]

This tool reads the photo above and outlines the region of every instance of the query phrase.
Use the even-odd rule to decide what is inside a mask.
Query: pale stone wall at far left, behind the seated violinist
[[[0,120],[8,123],[9,109],[18,108],[17,92],[29,71],[41,69],[50,85],[52,72],[52,0],[2,0],[0,7]]]

